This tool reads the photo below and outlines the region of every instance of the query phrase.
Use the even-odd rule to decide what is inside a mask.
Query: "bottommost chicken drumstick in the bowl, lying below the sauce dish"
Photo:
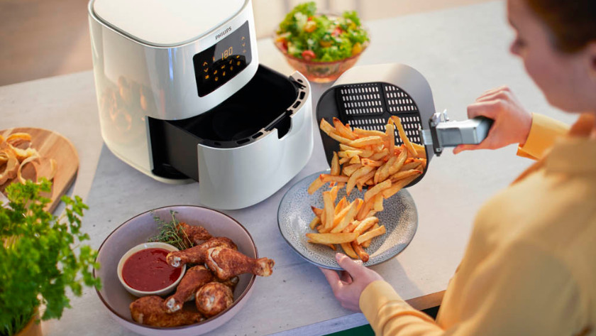
[[[192,325],[204,320],[200,313],[179,310],[170,314],[163,308],[164,300],[159,296],[143,296],[135,300],[129,308],[131,317],[135,322],[153,327],[177,327]]]

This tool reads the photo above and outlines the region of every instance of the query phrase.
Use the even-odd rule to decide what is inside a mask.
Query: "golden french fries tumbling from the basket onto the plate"
[[[339,244],[354,259],[366,262],[373,238],[385,234],[385,226],[375,217],[383,210],[383,200],[395,195],[426,168],[424,146],[409,141],[399,117],[392,116],[385,125],[385,132],[351,128],[333,118],[333,125],[321,119],[322,131],[340,143],[341,151],[333,152],[331,172],[321,174],[309,185],[313,194],[326,183],[331,190],[323,192],[323,209],[311,207],[314,219],[307,233],[309,242],[324,244],[335,250]],[[402,146],[395,146],[394,131],[397,128]],[[338,190],[346,188],[350,195],[354,188],[368,188],[364,199],[348,202],[343,197],[336,204]]]

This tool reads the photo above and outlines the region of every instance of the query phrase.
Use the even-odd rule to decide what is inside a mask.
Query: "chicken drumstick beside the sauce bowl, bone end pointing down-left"
[[[167,313],[175,313],[182,309],[182,305],[185,302],[190,301],[194,298],[194,294],[197,290],[213,281],[213,273],[206,269],[205,266],[194,266],[187,270],[186,274],[180,280],[176,293],[166,298],[163,302],[163,309]]]

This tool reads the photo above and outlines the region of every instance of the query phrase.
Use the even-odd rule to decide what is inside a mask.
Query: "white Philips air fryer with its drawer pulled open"
[[[91,0],[101,135],[166,183],[199,181],[201,202],[265,200],[311,156],[311,95],[299,72],[258,64],[250,0]]]

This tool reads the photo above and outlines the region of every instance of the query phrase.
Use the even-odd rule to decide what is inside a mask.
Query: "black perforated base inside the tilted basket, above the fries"
[[[341,121],[360,129],[385,131],[385,124],[392,116],[399,116],[410,141],[421,144],[418,130],[422,124],[420,112],[407,92],[386,83],[343,85],[336,90]],[[402,139],[395,131],[395,141]]]

